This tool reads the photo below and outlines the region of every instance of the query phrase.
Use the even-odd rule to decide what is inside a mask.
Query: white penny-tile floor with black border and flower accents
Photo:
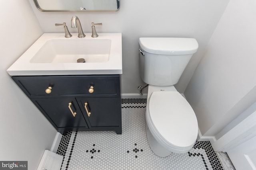
[[[161,158],[146,137],[146,99],[122,100],[122,135],[114,131],[69,132],[57,153],[61,170],[224,170],[210,142]]]

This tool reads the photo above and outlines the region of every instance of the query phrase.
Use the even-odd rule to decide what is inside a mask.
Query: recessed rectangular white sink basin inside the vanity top
[[[50,39],[32,57],[30,63],[106,63],[111,47],[110,39]]]

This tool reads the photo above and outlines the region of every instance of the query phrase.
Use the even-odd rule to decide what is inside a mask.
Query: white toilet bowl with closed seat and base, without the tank
[[[152,88],[154,86],[149,86],[149,91],[153,92],[146,107],[146,133],[150,148],[161,157],[169,156],[171,152],[188,152],[198,134],[198,123],[192,107],[177,91]]]

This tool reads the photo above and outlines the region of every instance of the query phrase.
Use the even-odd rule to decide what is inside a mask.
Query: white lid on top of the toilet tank
[[[194,38],[142,37],[139,44],[142,50],[160,55],[188,55],[198,49]]]

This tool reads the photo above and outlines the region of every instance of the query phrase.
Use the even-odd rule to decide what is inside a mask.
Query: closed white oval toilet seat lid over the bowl
[[[167,145],[193,147],[198,134],[196,115],[179,92],[153,92],[148,113],[154,131]]]

